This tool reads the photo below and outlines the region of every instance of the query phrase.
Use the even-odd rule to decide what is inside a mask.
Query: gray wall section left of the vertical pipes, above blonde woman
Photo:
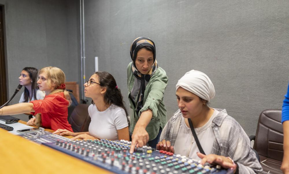
[[[25,66],[57,66],[66,81],[80,81],[79,1],[0,0],[0,4],[5,6],[8,97]],[[10,104],[18,103],[23,91]]]

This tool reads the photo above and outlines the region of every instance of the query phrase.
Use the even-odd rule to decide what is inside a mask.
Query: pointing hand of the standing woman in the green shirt
[[[145,127],[141,126],[134,127],[134,132],[131,135],[131,146],[129,153],[132,154],[134,152],[135,147],[138,148],[145,146],[148,141],[149,141],[149,134],[145,130]]]

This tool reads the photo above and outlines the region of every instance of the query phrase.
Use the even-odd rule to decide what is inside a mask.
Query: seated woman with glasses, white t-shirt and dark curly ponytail
[[[73,133],[58,129],[53,133],[74,136],[73,139],[129,140],[129,120],[121,90],[108,72],[98,71],[84,83],[86,97],[92,98],[88,107],[91,117],[88,132]]]

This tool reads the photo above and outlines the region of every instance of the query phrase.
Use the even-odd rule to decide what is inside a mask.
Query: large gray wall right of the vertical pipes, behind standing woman
[[[110,72],[127,100],[129,48],[136,37],[156,44],[166,70],[168,118],[178,109],[177,80],[191,69],[208,74],[216,96],[248,135],[262,110],[281,108],[288,85],[289,1],[95,1],[85,2],[86,77]]]

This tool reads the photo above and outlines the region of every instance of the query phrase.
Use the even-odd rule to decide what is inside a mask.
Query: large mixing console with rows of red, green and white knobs
[[[130,154],[130,144],[131,142],[125,140],[101,139],[57,141],[44,145],[119,174],[225,174],[232,172],[231,170],[217,169],[212,165],[203,166],[198,160],[163,150],[155,150],[149,146],[136,148],[135,152]]]

